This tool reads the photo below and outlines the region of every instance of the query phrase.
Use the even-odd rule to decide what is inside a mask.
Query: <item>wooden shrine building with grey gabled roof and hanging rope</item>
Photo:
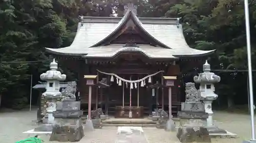
[[[190,48],[178,18],[137,17],[137,7],[124,7],[123,17],[82,17],[73,43],[46,48],[59,65],[75,71],[81,108],[88,111],[89,86],[84,75],[97,75],[92,88],[92,109],[106,115],[134,118],[156,108],[168,112],[168,89],[163,76],[177,76],[172,88],[172,113],[180,109],[180,74],[202,65],[215,50]],[[146,77],[143,79],[144,77]],[[137,80],[130,83],[131,80]]]

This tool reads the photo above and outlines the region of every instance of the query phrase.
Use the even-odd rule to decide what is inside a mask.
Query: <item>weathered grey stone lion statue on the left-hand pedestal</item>
[[[68,87],[61,90],[61,95],[64,99],[76,98],[76,81],[68,82]]]

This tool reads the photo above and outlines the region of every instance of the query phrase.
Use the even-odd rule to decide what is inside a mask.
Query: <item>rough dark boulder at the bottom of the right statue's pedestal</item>
[[[211,142],[209,132],[205,127],[183,126],[179,127],[177,137],[180,142]]]

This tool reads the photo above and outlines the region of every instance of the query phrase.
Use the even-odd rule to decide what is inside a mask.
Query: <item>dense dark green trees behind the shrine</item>
[[[130,0],[131,1],[131,0]],[[0,96],[2,106],[28,104],[33,84],[47,71],[44,47],[68,46],[75,36],[78,16],[123,15],[129,0],[2,0],[0,1]],[[241,0],[137,0],[139,17],[181,17],[187,43],[197,49],[217,49],[210,57],[214,69],[247,69],[244,3]],[[250,1],[252,66],[256,34],[256,2]],[[20,63],[21,61],[40,61]],[[15,63],[16,62],[16,63]],[[62,67],[65,70],[65,67]],[[66,70],[67,71],[67,70]],[[69,75],[69,73],[66,73]],[[217,72],[221,104],[243,97],[247,101],[246,72]],[[71,74],[70,74],[71,75]],[[68,76],[72,77],[72,76]],[[228,97],[228,98],[226,98]],[[240,99],[239,99],[240,98]],[[1,100],[0,100],[1,101]],[[228,100],[232,106],[233,100]],[[236,100],[234,100],[237,102]],[[239,103],[239,102],[237,102]]]

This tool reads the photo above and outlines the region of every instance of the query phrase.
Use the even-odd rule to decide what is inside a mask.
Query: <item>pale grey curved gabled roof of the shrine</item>
[[[121,45],[98,46],[113,35],[132,16],[138,26],[161,47],[141,45],[139,48],[123,48]],[[95,47],[96,46],[96,47]],[[65,48],[46,48],[47,51],[62,55],[80,55],[84,58],[111,58],[124,51],[142,52],[149,58],[175,59],[181,56],[202,56],[214,50],[202,51],[190,48],[184,38],[182,25],[174,18],[138,18],[132,11],[122,18],[84,17],[78,24],[73,43]]]

